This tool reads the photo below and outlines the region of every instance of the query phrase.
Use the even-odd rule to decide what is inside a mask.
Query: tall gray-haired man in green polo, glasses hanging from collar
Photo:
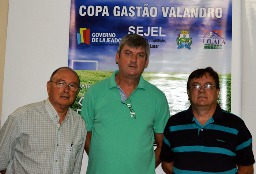
[[[154,174],[161,163],[170,113],[165,94],[142,77],[149,54],[142,36],[124,36],[116,54],[119,70],[87,90],[82,106],[87,174]]]

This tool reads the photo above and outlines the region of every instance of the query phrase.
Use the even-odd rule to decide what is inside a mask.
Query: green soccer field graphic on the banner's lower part
[[[80,91],[72,109],[80,113],[82,100],[87,89],[91,85],[108,78],[114,71],[87,71],[75,70],[80,78]],[[144,72],[142,74],[146,81],[157,86],[165,93],[170,114],[174,115],[180,111],[188,109],[190,102],[187,95],[187,81],[189,73],[155,73]],[[222,109],[231,111],[231,74],[219,74],[220,93],[217,103]]]

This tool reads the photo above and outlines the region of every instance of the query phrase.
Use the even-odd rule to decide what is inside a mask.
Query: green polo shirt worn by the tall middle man
[[[154,132],[170,117],[165,94],[140,77],[129,96],[136,119],[122,104],[115,71],[86,92],[82,116],[92,131],[87,174],[154,174]]]

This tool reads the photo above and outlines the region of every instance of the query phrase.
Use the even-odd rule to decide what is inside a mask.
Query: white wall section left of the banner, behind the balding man
[[[47,98],[46,82],[67,66],[70,0],[10,0],[2,125],[16,108]]]

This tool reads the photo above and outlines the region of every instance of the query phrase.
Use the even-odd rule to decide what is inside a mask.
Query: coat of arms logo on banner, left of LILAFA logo
[[[176,39],[177,44],[178,44],[177,49],[183,49],[185,47],[186,49],[191,50],[192,38],[189,37],[188,33],[189,33],[189,31],[187,31],[187,30],[180,31],[180,34],[178,34],[178,37]]]

